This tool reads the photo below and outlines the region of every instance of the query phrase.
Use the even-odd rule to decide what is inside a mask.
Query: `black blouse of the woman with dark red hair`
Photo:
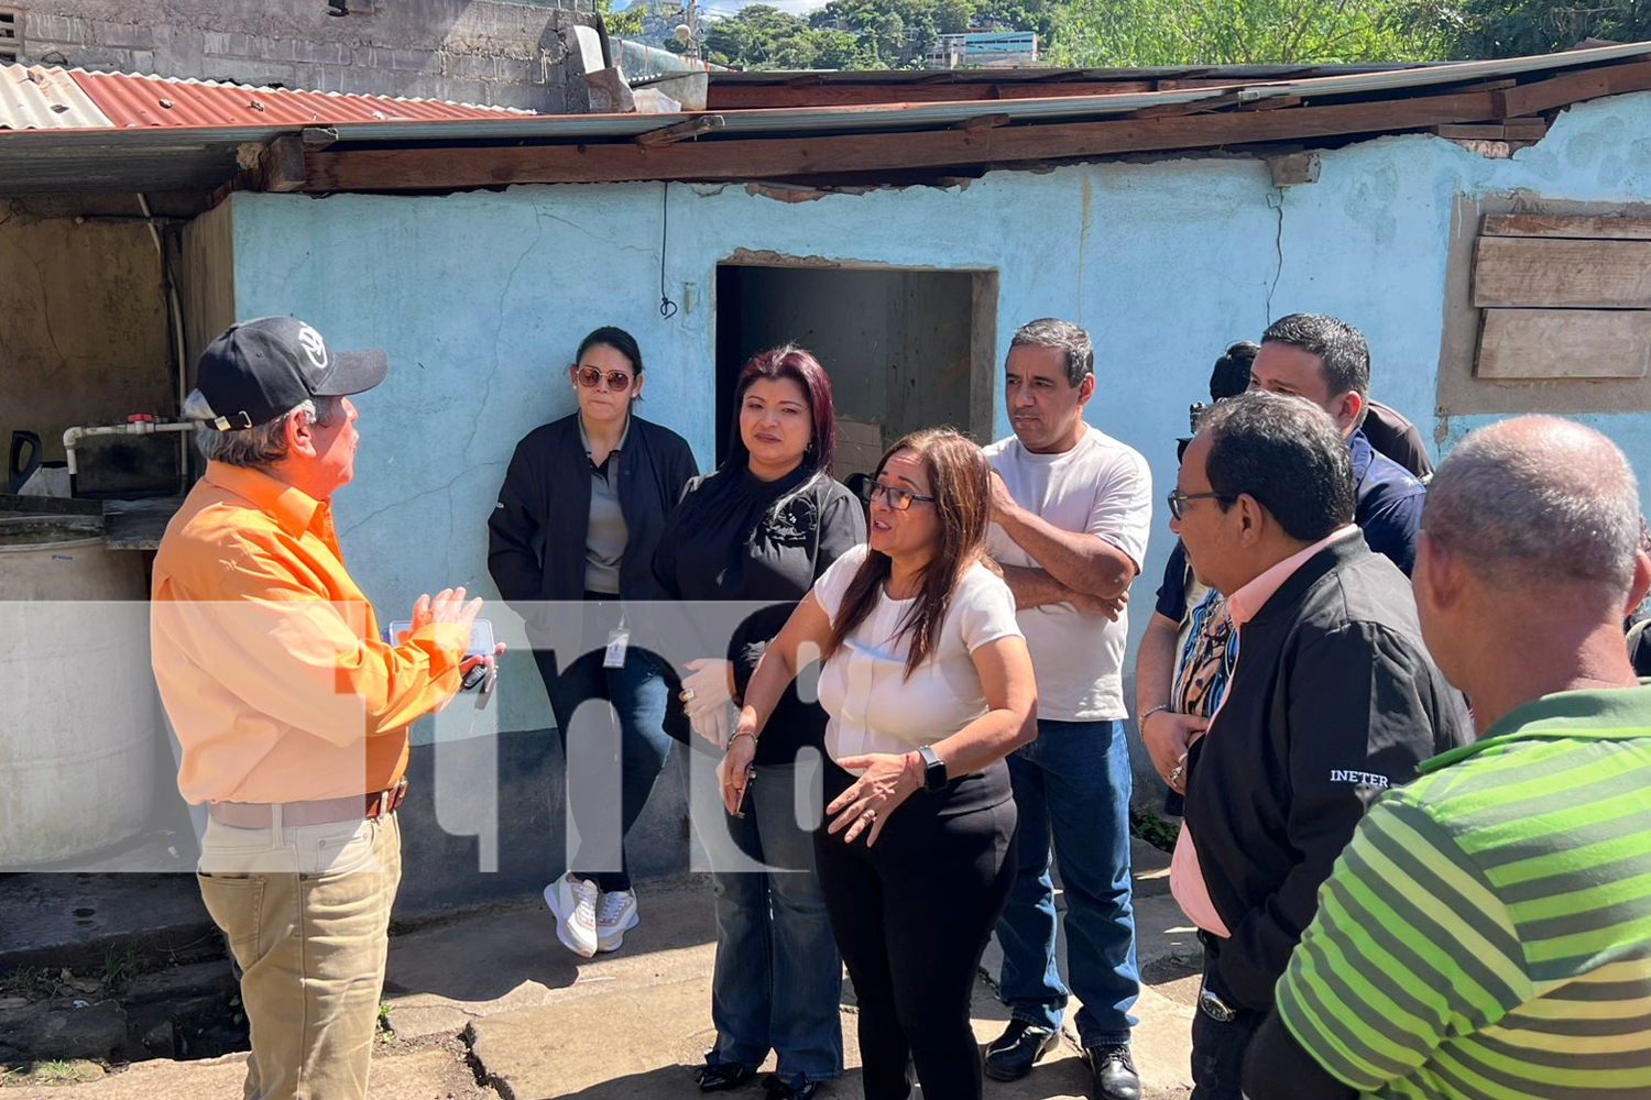
[[[768,604],[726,640],[743,694],[763,650],[814,581],[863,541],[865,506],[829,475],[799,468],[763,482],[746,467],[725,465],[688,482],[654,552],[654,581],[662,599]],[[755,762],[789,764],[802,745],[824,752],[824,744],[826,711],[802,703],[792,684],[763,727]]]

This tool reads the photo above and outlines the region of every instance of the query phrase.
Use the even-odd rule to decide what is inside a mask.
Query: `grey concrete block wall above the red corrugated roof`
[[[593,0],[12,0],[23,10],[23,59],[121,73],[281,84],[325,92],[413,96],[584,109],[565,66],[573,26]],[[580,69],[583,71],[583,68]],[[566,84],[571,79],[578,87]]]

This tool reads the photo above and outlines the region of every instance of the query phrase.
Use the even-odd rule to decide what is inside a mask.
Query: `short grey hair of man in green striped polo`
[[[1628,594],[1639,485],[1616,444],[1573,421],[1481,427],[1440,463],[1422,528],[1494,587],[1557,584]]]

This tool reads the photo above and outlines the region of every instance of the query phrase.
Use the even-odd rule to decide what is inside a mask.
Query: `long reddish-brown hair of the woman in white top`
[[[986,559],[986,526],[991,521],[991,467],[972,439],[951,427],[930,427],[913,432],[890,447],[877,463],[873,478],[883,477],[883,467],[901,450],[910,450],[923,463],[930,480],[928,495],[939,521],[934,556],[923,567],[923,585],[911,610],[900,620],[895,642],[910,640],[906,678],[916,671],[939,643],[941,623],[951,607],[951,594],[958,589],[963,571]],[[913,505],[923,508],[925,505]],[[842,610],[832,623],[830,642],[826,645],[829,660],[854,633],[872,609],[888,579],[888,554],[870,551],[849,590],[842,597]]]

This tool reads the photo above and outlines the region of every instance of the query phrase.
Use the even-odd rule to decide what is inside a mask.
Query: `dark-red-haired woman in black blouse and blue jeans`
[[[654,552],[660,594],[674,600],[761,604],[733,632],[726,660],[688,661],[682,703],[715,750],[726,744],[728,701],[740,698],[763,650],[797,600],[865,539],[860,503],[830,477],[835,412],[830,381],[807,351],[773,348],[740,371],[728,460],[688,487]],[[698,1070],[702,1092],[745,1084],[774,1051],[771,1100],[812,1097],[842,1074],[837,999],[842,963],[814,874],[826,712],[794,689],[776,698],[773,732],[753,760],[763,780],[728,820],[741,869],[715,867],[717,1044]],[[799,795],[799,792],[802,792]],[[717,848],[707,839],[713,853]],[[726,863],[726,861],[725,861]]]

